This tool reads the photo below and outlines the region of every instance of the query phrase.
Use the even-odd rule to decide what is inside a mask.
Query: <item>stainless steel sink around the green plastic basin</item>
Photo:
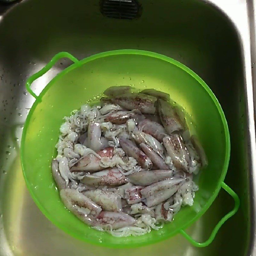
[[[139,2],[141,16],[133,20],[104,17],[98,0],[28,0],[11,8],[0,4],[3,10],[0,13],[0,255],[256,255],[256,148],[251,71],[254,63],[251,64],[250,44],[253,3],[245,0]],[[25,186],[20,166],[20,136],[34,102],[25,90],[26,78],[60,51],[82,59],[124,48],[158,52],[184,63],[211,87],[225,112],[231,136],[225,182],[239,195],[241,206],[208,247],[195,248],[180,235],[125,250],[84,244],[47,220]],[[40,93],[68,65],[68,60],[61,60],[33,84],[33,90]],[[232,207],[232,198],[220,191],[209,210],[187,232],[197,241],[205,241]]]

